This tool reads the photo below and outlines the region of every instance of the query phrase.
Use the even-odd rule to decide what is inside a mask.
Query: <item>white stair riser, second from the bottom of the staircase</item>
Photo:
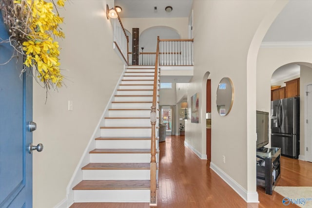
[[[83,180],[150,180],[150,170],[82,170]]]

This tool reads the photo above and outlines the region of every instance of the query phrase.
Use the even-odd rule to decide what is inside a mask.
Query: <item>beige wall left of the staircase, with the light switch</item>
[[[59,40],[61,69],[66,86],[45,91],[34,82],[34,144],[44,150],[33,154],[34,208],[51,208],[66,198],[74,173],[123,71],[113,50],[112,25],[106,2],[72,0],[59,9],[66,38]],[[68,111],[68,100],[73,111]]]

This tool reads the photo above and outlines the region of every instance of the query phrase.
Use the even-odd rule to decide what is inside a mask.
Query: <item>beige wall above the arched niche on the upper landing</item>
[[[122,25],[132,33],[132,28],[139,28],[139,34],[154,26],[167,26],[176,29],[182,39],[188,38],[188,18],[122,18]]]

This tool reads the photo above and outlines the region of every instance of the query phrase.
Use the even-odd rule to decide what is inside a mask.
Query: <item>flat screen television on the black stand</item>
[[[269,113],[257,111],[257,151],[265,151],[269,144]]]

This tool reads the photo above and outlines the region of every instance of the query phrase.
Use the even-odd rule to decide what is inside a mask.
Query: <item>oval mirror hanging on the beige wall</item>
[[[221,79],[216,90],[216,107],[219,115],[227,115],[232,108],[234,100],[234,87],[229,77]]]

